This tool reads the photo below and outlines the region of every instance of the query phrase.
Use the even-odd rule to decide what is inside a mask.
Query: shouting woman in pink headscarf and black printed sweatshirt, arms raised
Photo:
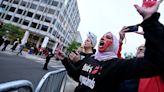
[[[150,2],[151,6],[135,5],[144,19],[141,23],[146,39],[144,57],[117,58],[119,42],[111,32],[101,38],[95,57],[84,59],[82,66],[75,67],[63,52],[56,52],[56,58],[62,60],[68,74],[79,79],[75,92],[118,92],[122,80],[152,77],[164,72],[164,26],[158,21],[160,14],[157,13],[162,1],[145,2]]]

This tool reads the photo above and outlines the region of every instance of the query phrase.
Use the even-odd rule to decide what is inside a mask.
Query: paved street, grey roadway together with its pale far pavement
[[[60,61],[54,58],[49,63],[48,71],[42,70],[45,62],[44,58],[39,56],[30,55],[23,52],[23,55],[16,55],[17,52],[11,52],[9,48],[6,51],[0,51],[0,83],[13,81],[13,80],[29,80],[36,88],[40,79],[50,71],[63,68]],[[76,82],[70,78],[67,80],[65,92],[73,92]]]

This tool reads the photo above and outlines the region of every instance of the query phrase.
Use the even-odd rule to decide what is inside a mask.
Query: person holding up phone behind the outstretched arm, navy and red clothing
[[[120,31],[120,41],[125,38],[126,27]],[[143,35],[144,32],[135,32]],[[122,48],[122,47],[121,47]],[[144,57],[145,45],[137,48],[136,57]],[[120,52],[118,52],[120,53]],[[120,85],[119,92],[164,92],[164,74],[150,78],[125,80]]]

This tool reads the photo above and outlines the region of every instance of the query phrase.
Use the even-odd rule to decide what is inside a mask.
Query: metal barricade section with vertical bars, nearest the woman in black
[[[66,78],[65,68],[48,72],[40,80],[35,92],[63,92]]]

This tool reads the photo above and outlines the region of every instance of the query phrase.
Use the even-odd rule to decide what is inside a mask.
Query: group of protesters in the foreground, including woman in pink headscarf
[[[136,56],[121,56],[122,41],[129,27],[123,27],[119,40],[111,32],[104,34],[95,52],[96,36],[89,33],[82,47],[68,56],[61,50],[55,57],[61,60],[68,75],[79,84],[75,92],[164,92],[164,26],[157,12],[162,0],[143,0],[134,5],[143,21],[138,25],[146,42],[138,47]]]

